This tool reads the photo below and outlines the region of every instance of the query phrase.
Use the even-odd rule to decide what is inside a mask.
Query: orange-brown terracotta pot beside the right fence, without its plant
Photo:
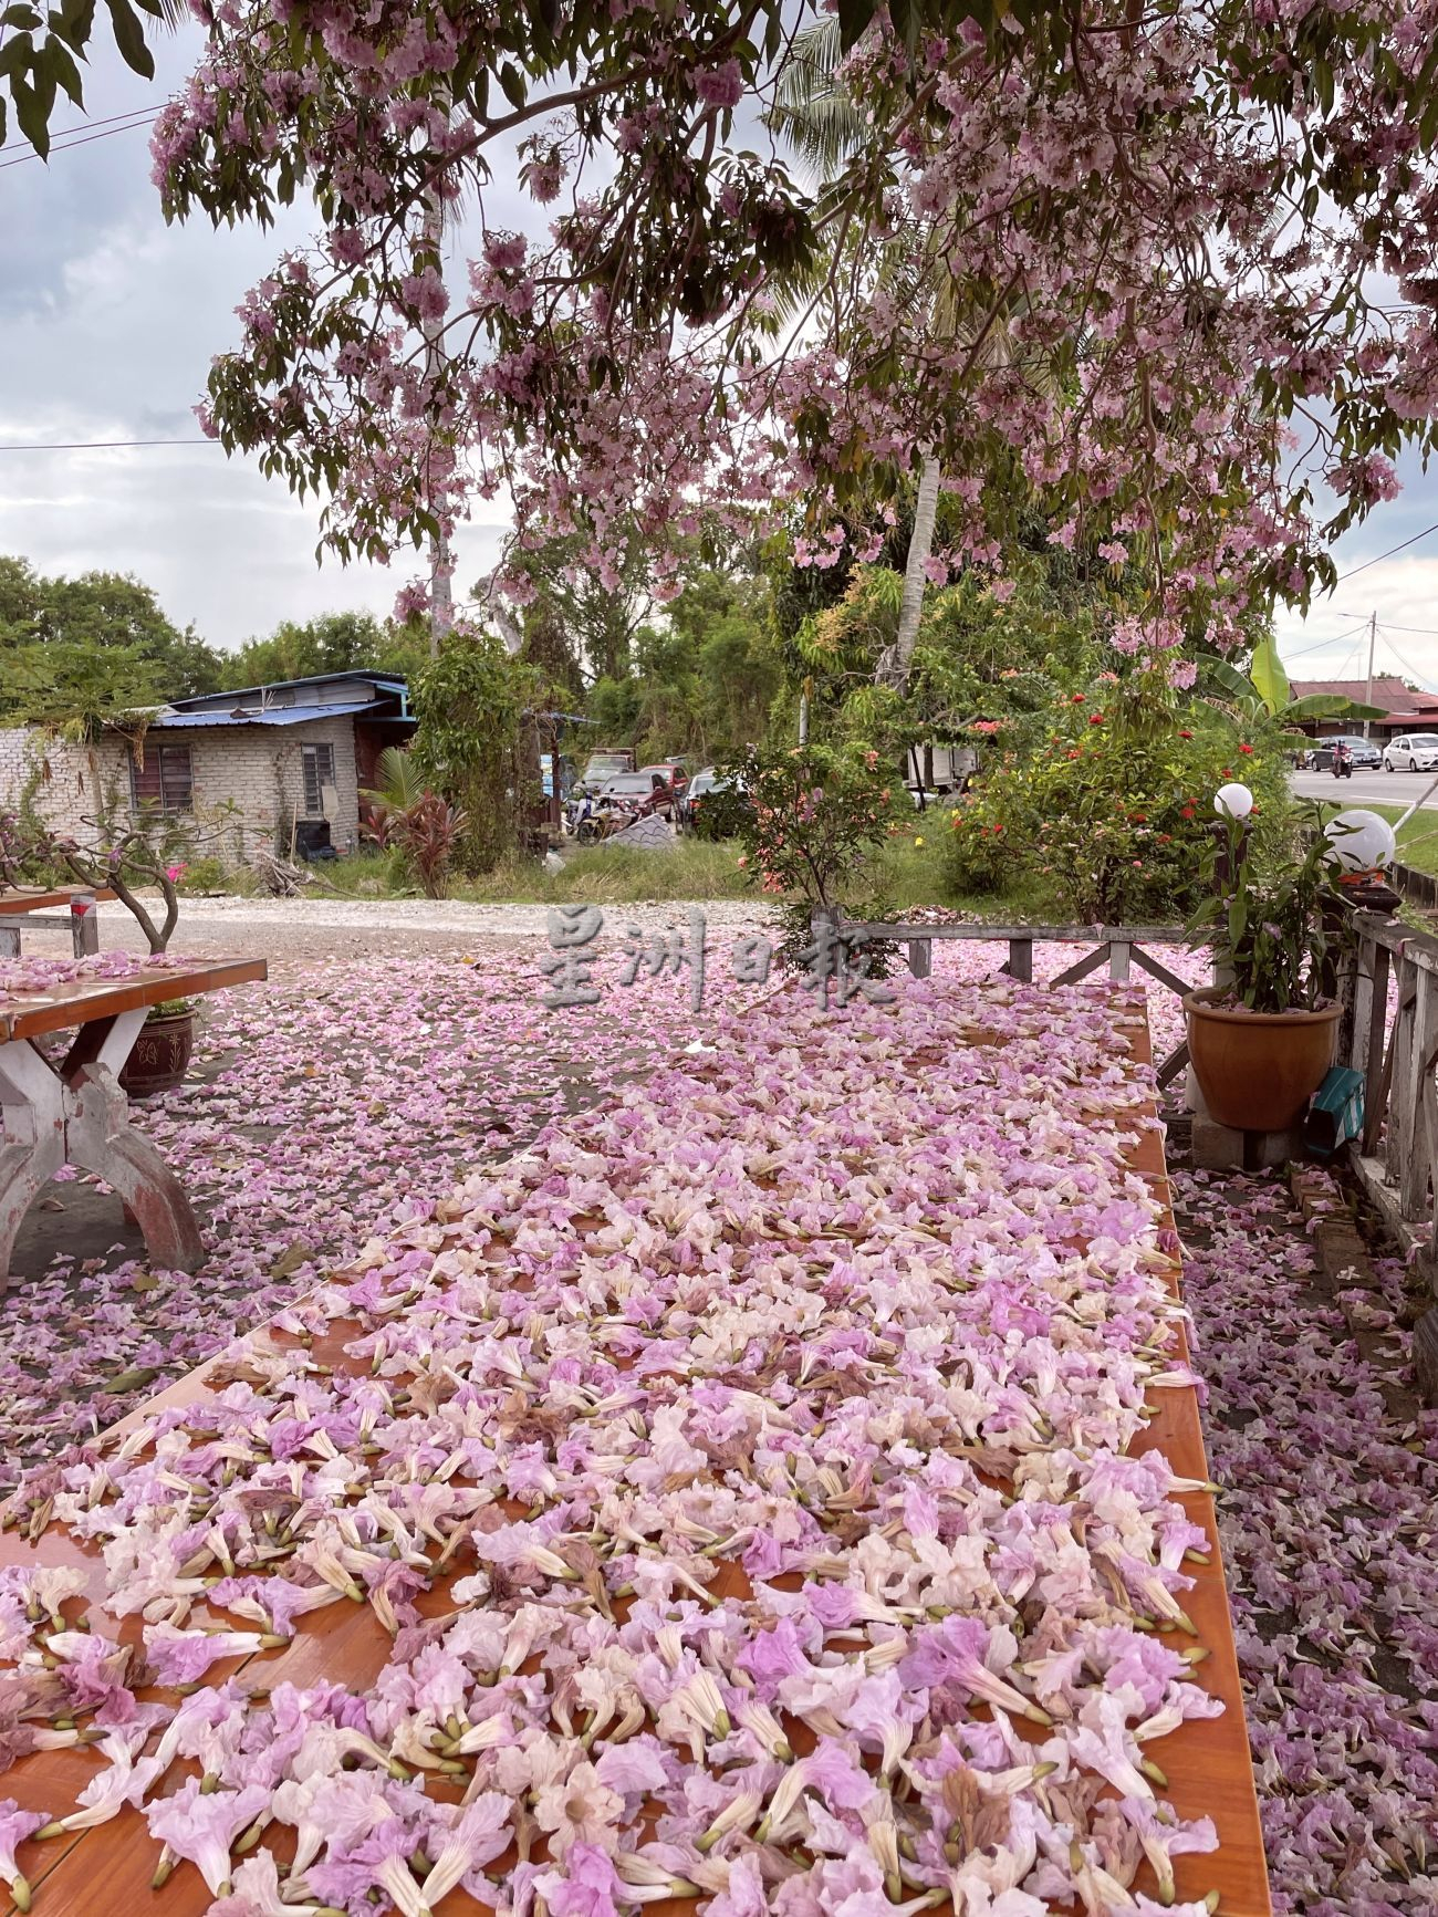
[[[1287,1131],[1333,1066],[1342,1006],[1246,1012],[1223,985],[1191,991],[1189,1056],[1210,1116],[1235,1131]]]

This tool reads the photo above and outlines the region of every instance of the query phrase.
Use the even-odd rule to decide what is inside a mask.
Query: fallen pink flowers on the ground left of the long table
[[[153,964],[127,953],[79,966],[27,957],[0,964],[0,993],[23,989],[33,1003],[77,972],[125,980]],[[541,1006],[543,983],[533,955],[487,947],[330,962],[201,1001],[199,1074],[138,1121],[180,1173],[213,1256],[188,1277],[142,1256],[59,1252],[44,1277],[12,1284],[0,1309],[0,1488],[113,1424],[374,1233],[424,1215],[474,1164],[700,1029],[673,978],[640,974],[562,1014]],[[52,1204],[65,1202],[58,1192]]]

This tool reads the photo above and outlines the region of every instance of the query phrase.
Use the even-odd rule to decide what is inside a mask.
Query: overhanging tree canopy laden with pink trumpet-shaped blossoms
[[[761,130],[813,0],[192,6],[167,211],[322,219],[201,412],[330,493],[341,556],[508,493],[602,579],[642,541],[661,590],[706,512],[801,516],[824,566],[930,460],[932,577],[1037,504],[1141,567],[1114,636],[1162,658],[1329,585],[1321,535],[1434,445],[1438,0],[840,4],[863,130],[823,186]]]

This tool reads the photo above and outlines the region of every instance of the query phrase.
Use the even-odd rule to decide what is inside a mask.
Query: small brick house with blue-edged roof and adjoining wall
[[[353,851],[360,786],[412,730],[405,684],[368,673],[178,700],[150,719],[138,751],[115,732],[84,748],[0,730],[0,805],[29,788],[44,819],[79,834],[105,797],[151,803],[192,815],[207,840],[228,809],[205,849],[236,863],[261,845],[288,857],[295,820],[326,820],[336,849]]]

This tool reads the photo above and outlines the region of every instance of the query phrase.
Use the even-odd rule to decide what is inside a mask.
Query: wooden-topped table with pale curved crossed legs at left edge
[[[0,991],[0,1292],[21,1221],[61,1166],[94,1171],[115,1187],[155,1263],[199,1269],[205,1242],[190,1200],[155,1146],[130,1125],[117,1079],[151,1005],[263,978],[263,958],[196,958],[132,978]],[[33,1043],[73,1026],[79,1031],[59,1064]]]

